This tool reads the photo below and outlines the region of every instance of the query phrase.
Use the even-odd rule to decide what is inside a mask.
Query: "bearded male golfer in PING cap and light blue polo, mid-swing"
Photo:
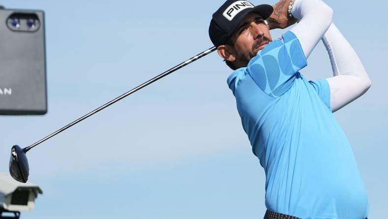
[[[352,148],[332,112],[360,97],[371,82],[332,14],[321,0],[280,0],[273,7],[227,0],[210,22],[210,38],[234,70],[227,84],[242,126],[265,171],[264,219],[368,216]],[[297,20],[272,39],[269,30]],[[333,77],[307,81],[298,71],[321,39]]]

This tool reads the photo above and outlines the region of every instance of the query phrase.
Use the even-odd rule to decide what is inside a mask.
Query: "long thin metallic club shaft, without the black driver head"
[[[181,64],[179,64],[179,65],[177,65],[177,66],[175,66],[175,67],[173,67],[173,68],[171,68],[171,69],[169,69],[169,70],[167,70],[167,71],[165,71],[165,72],[159,74],[158,76],[156,76],[156,77],[154,77],[154,78],[152,78],[152,79],[150,79],[150,80],[148,80],[148,81],[146,81],[146,82],[140,84],[139,86],[133,88],[132,90],[128,91],[127,93],[125,93],[125,94],[123,94],[123,95],[121,95],[121,96],[119,96],[119,97],[117,97],[117,98],[111,100],[110,102],[108,102],[108,103],[102,105],[101,107],[97,108],[96,110],[93,110],[93,111],[89,112],[88,114],[86,114],[86,115],[80,117],[79,119],[77,119],[77,120],[71,122],[70,124],[66,125],[65,127],[63,127],[63,128],[61,128],[61,129],[59,129],[59,130],[53,132],[52,134],[46,136],[45,138],[39,140],[38,142],[36,142],[36,143],[34,143],[34,144],[32,144],[31,146],[28,146],[28,147],[23,148],[23,151],[24,151],[24,152],[29,151],[32,147],[39,145],[40,143],[42,143],[42,142],[44,142],[44,141],[50,139],[51,137],[54,137],[55,135],[57,135],[57,134],[59,134],[59,133],[65,131],[66,129],[70,128],[71,126],[77,124],[78,122],[80,122],[80,121],[82,121],[82,120],[84,120],[84,119],[86,119],[86,118],[92,116],[93,114],[97,113],[97,112],[100,111],[100,110],[103,110],[103,109],[109,107],[110,105],[112,105],[112,104],[114,104],[114,103],[120,101],[121,99],[123,99],[123,98],[129,96],[130,94],[132,94],[132,93],[134,93],[134,92],[140,90],[141,88],[143,88],[143,87],[145,87],[145,86],[147,86],[147,85],[149,85],[149,84],[151,84],[151,83],[153,83],[153,82],[155,82],[155,81],[161,79],[162,77],[167,76],[168,74],[173,73],[173,72],[177,71],[178,69],[181,69],[181,68],[183,68],[183,67],[189,65],[190,63],[192,63],[192,62],[194,62],[194,61],[196,61],[196,60],[198,60],[198,59],[204,57],[205,55],[210,54],[211,52],[215,51],[216,49],[217,49],[216,47],[212,47],[212,48],[210,48],[210,49],[208,49],[208,50],[206,50],[206,51],[203,51],[203,52],[199,53],[198,55],[196,55],[196,56],[194,56],[194,57],[188,59],[187,61],[182,62]]]

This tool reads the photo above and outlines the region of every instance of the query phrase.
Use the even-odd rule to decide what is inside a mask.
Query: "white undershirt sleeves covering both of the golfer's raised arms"
[[[352,46],[332,24],[332,9],[322,0],[295,0],[291,13],[300,19],[291,32],[298,37],[306,58],[321,38],[329,54],[333,77],[326,79],[331,110],[339,110],[364,94],[371,81]]]

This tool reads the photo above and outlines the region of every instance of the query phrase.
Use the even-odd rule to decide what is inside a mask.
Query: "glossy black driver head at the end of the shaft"
[[[9,173],[12,178],[21,183],[27,183],[29,172],[26,152],[20,146],[12,146],[9,159]]]

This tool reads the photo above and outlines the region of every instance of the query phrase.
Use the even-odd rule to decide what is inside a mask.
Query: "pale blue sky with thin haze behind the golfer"
[[[211,47],[208,24],[222,2],[1,1],[45,11],[49,111],[0,117],[0,172],[8,172],[12,145],[29,146]],[[369,217],[383,218],[388,2],[326,2],[372,80],[364,96],[335,116],[365,183]],[[307,78],[331,75],[322,43],[308,62],[301,71]],[[43,195],[22,218],[261,218],[265,176],[226,85],[229,73],[210,54],[31,150],[29,180]]]

